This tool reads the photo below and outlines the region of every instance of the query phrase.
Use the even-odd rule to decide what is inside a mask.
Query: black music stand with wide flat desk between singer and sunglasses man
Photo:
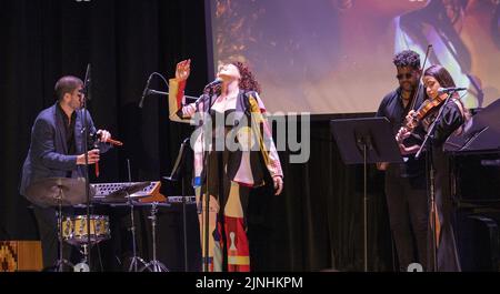
[[[332,120],[330,125],[343,163],[363,164],[363,256],[364,272],[368,272],[368,163],[401,163],[402,158],[386,118]]]

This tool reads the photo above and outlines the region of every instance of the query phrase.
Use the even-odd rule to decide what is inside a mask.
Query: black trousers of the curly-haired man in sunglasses
[[[398,252],[400,271],[420,263],[427,267],[428,256],[428,199],[424,179],[400,175],[398,165],[386,171],[386,197],[392,236]]]

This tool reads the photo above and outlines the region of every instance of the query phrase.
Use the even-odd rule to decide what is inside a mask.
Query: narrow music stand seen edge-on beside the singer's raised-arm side
[[[188,272],[188,230],[187,230],[187,210],[186,210],[186,184],[184,184],[184,174],[186,174],[186,158],[188,156],[189,152],[189,138],[187,138],[179,149],[179,154],[176,159],[176,164],[172,168],[172,172],[170,173],[170,176],[163,176],[164,180],[171,182],[179,182],[181,181],[181,189],[182,189],[182,231],[183,231],[183,239],[184,239],[184,272]],[[167,193],[171,194],[171,193]]]

